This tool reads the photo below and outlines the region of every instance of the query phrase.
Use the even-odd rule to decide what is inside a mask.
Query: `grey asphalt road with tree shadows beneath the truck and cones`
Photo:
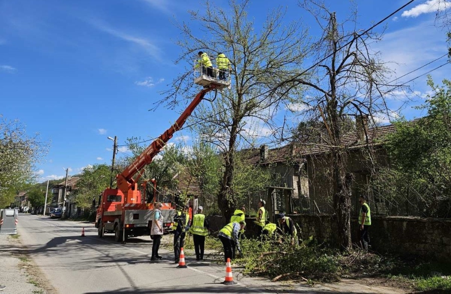
[[[85,237],[81,236],[85,229]],[[188,268],[176,268],[173,252],[160,249],[161,261],[150,261],[149,237],[117,243],[113,234],[100,239],[93,224],[21,214],[18,231],[23,245],[60,294],[78,293],[402,293],[348,281],[314,288],[273,283],[233,270],[236,285],[224,285],[225,264],[185,257]],[[172,237],[172,236],[168,236]],[[192,253],[191,253],[192,254]]]

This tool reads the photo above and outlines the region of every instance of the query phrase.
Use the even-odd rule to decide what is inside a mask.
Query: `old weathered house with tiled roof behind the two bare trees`
[[[343,136],[341,141],[341,147],[347,151],[343,160],[345,169],[352,174],[351,197],[356,209],[358,196],[362,193],[377,202],[368,184],[374,174],[372,171],[388,165],[381,139],[395,131],[393,125],[368,128],[366,121],[360,122],[357,129],[358,132]],[[260,152],[251,157],[250,163],[270,169],[273,177],[271,186],[292,189],[293,212],[333,213],[332,159],[329,150],[325,141],[315,144],[290,143],[275,149],[263,145]],[[281,210],[288,210],[287,205],[280,206]]]

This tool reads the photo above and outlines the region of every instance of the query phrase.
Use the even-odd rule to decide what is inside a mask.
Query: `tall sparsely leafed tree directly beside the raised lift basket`
[[[218,193],[218,206],[224,216],[235,209],[235,154],[240,144],[252,145],[250,125],[272,125],[278,105],[287,96],[282,82],[299,75],[305,56],[307,32],[299,21],[283,23],[285,11],[270,12],[264,24],[255,24],[246,12],[249,1],[229,2],[229,8],[206,1],[202,13],[191,11],[191,22],[179,25],[183,39],[177,64],[193,64],[197,52],[212,59],[222,52],[232,63],[232,88],[217,94],[211,104],[202,104],[194,112],[195,127],[201,138],[217,146],[224,158]],[[194,28],[199,26],[200,30]],[[174,107],[198,89],[191,81],[192,69],[178,76],[164,100]],[[292,87],[294,90],[295,88]],[[180,98],[181,97],[181,98]]]

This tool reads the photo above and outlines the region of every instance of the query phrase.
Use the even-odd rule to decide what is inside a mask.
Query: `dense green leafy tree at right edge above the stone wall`
[[[434,95],[420,108],[427,115],[395,122],[387,136],[391,167],[375,182],[378,196],[390,204],[407,202],[423,216],[449,217],[451,212],[451,82],[428,85]]]

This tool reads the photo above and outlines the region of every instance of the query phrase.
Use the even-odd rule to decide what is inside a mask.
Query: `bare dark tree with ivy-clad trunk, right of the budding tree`
[[[326,135],[324,140],[310,140],[307,145],[316,152],[330,155],[332,174],[333,207],[340,227],[339,236],[343,249],[351,246],[351,171],[347,167],[346,146],[343,135],[348,130],[343,121],[349,117],[369,117],[373,121],[380,115],[390,115],[387,92],[396,87],[390,85],[390,69],[372,51],[371,44],[380,36],[371,31],[345,31],[345,23],[339,24],[334,12],[323,3],[304,0],[300,6],[316,18],[323,30],[315,43],[317,66],[312,67],[309,77],[296,78],[293,86],[308,87],[302,100],[303,117],[306,121],[322,121],[317,133]],[[357,24],[353,12],[350,24]],[[287,83],[291,83],[288,81]],[[364,141],[368,144],[368,136]]]

